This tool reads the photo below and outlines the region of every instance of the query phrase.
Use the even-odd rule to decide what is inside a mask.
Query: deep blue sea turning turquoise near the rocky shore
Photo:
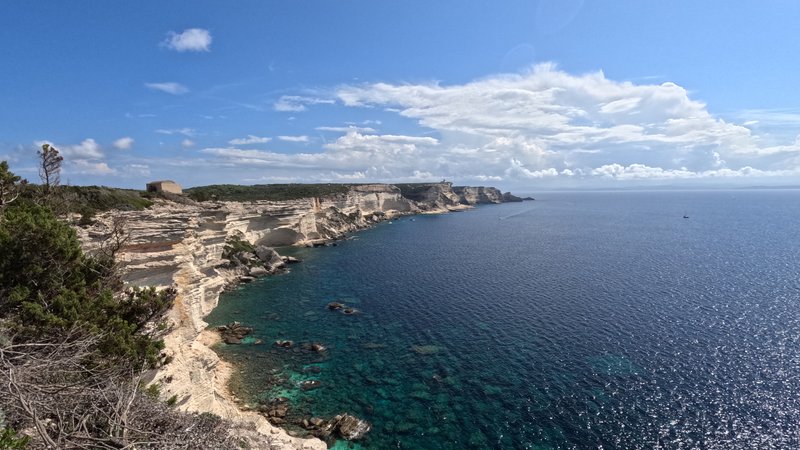
[[[372,422],[361,448],[800,448],[800,191],[542,193],[284,253],[217,350],[244,398]]]

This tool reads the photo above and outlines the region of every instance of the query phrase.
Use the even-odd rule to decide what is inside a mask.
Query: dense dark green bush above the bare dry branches
[[[106,357],[158,362],[163,343],[146,326],[170,308],[173,290],[122,289],[109,258],[84,255],[75,231],[30,203],[0,219],[0,318],[16,339],[78,328],[102,336]]]

